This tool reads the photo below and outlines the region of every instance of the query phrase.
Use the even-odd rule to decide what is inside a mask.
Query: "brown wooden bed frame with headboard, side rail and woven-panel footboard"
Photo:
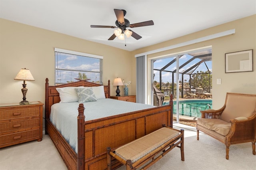
[[[45,83],[45,133],[49,134],[68,169],[92,170],[107,168],[106,148],[118,148],[123,144],[145,136],[165,124],[172,127],[172,95],[169,105],[144,109],[120,115],[85,121],[84,105],[78,107],[78,153],[71,148],[62,134],[50,121],[50,110],[54,103],[60,102],[56,88],[100,86],[88,81],[77,81],[63,85],[49,86]],[[104,85],[106,98],[110,98],[110,81]],[[117,168],[122,164],[113,165]]]

